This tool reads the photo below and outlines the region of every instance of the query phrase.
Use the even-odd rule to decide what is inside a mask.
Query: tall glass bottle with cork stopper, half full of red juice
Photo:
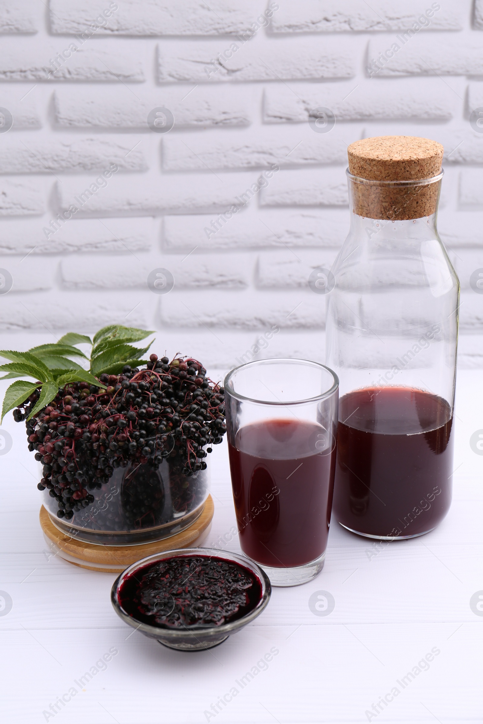
[[[450,508],[460,285],[436,227],[442,154],[410,136],[348,147],[350,232],[327,295],[333,515],[377,539],[425,534]]]

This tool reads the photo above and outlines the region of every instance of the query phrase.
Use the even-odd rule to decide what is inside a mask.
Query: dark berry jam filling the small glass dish
[[[158,560],[127,576],[125,612],[149,626],[206,628],[243,618],[261,599],[259,579],[243,565],[212,556]]]

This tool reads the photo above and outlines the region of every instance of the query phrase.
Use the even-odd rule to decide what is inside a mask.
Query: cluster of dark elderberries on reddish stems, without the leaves
[[[146,369],[126,365],[120,375],[101,374],[105,390],[67,384],[26,421],[28,448],[43,464],[38,489],[56,498],[59,518],[70,520],[90,505],[88,491],[101,489],[114,468],[156,470],[165,458],[177,488],[173,504],[182,507],[190,494],[187,478],[206,469],[203,458],[212,450],[206,445],[222,442],[223,388],[194,359],[149,359]],[[38,398],[33,392],[14,410],[14,420],[27,418]]]

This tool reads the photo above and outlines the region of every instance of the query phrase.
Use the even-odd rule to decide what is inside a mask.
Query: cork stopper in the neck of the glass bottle
[[[379,136],[351,143],[350,173],[375,182],[352,182],[354,214],[393,221],[434,214],[440,182],[412,185],[411,181],[440,174],[442,154],[437,141],[413,136]],[[381,181],[387,183],[378,185]]]

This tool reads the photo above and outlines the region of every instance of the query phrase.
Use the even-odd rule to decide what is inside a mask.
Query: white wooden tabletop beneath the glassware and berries
[[[456,414],[453,505],[437,530],[378,546],[333,523],[318,578],[274,589],[251,626],[192,654],[122,624],[109,600],[114,575],[49,553],[36,463],[23,426],[7,416],[2,428],[13,447],[0,456],[0,590],[12,610],[0,615],[1,724],[483,721],[483,615],[470,608],[483,592],[483,456],[469,446],[483,429],[480,371],[458,375]],[[215,450],[205,545],[235,525],[226,442]],[[238,550],[238,539],[228,547]],[[319,591],[335,599],[329,615],[308,605]],[[86,672],[91,678],[80,681]],[[381,697],[385,704],[373,709]]]

